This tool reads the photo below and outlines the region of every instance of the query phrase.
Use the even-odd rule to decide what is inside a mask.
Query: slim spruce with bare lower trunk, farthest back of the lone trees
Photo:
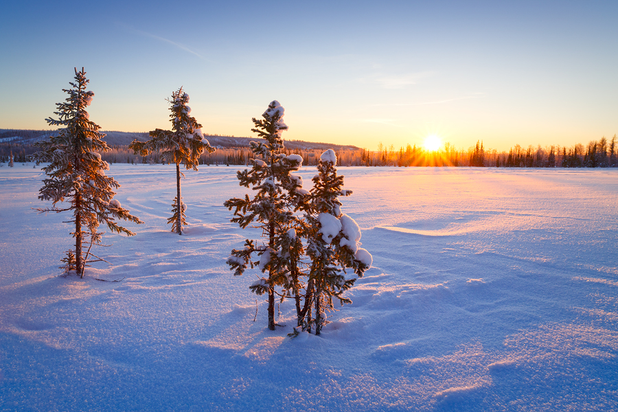
[[[172,99],[168,100],[170,107],[172,130],[155,129],[149,135],[152,139],[148,141],[134,140],[129,148],[136,154],[148,156],[152,152],[161,150],[161,159],[168,163],[176,164],[176,198],[172,205],[172,217],[168,219],[168,224],[172,224],[172,231],[179,235],[183,234],[183,225],[186,225],[185,210],[187,206],[183,203],[181,196],[181,171],[180,164],[183,163],[187,170],[198,170],[198,161],[201,154],[214,152],[208,140],[202,133],[202,125],[195,117],[191,117],[191,108],[187,106],[189,95],[181,87],[172,93]]]

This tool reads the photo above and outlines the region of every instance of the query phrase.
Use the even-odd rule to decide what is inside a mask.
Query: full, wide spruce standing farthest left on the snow
[[[100,223],[105,223],[111,231],[134,235],[132,231],[119,226],[116,219],[130,220],[142,223],[132,216],[120,202],[113,197],[115,188],[120,187],[113,177],[106,176],[108,163],[101,160],[101,152],[109,150],[102,140],[100,126],[89,119],[87,106],[92,102],[94,93],[86,91],[89,80],[86,72],[75,69],[75,82],[70,82],[71,89],[62,89],[69,97],[64,103],[57,103],[58,119],[45,119],[51,126],[61,126],[57,136],[39,141],[35,144],[41,150],[32,155],[37,162],[49,162],[43,170],[49,176],[43,180],[40,198],[52,201],[53,206],[36,209],[47,211],[72,211],[75,231],[75,251],[69,251],[67,270],[75,269],[80,277],[84,277],[84,268],[89,262],[93,244],[99,244],[102,233],[97,231]],[[58,203],[66,204],[57,207]],[[90,244],[84,254],[82,247]],[[100,258],[96,257],[98,260]]]

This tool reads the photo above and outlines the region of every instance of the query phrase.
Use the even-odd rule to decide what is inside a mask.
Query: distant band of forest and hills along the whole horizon
[[[133,139],[145,141],[148,133],[104,132],[111,150],[102,153],[108,163],[161,163],[158,153],[146,157],[133,154],[127,146]],[[25,163],[36,151],[35,141],[45,139],[49,130],[2,130],[0,129],[0,166],[10,161],[12,153],[16,163]],[[207,136],[216,152],[202,155],[203,165],[248,165],[251,160],[250,137]],[[306,141],[285,141],[288,154],[298,154],[304,165],[316,165],[321,153],[329,148],[335,150],[342,166],[400,166],[400,167],[495,167],[495,168],[616,168],[618,167],[617,136],[610,140],[602,137],[587,145],[574,146],[528,146],[515,145],[508,152],[485,149],[482,141],[475,146],[457,149],[451,144],[435,152],[407,145],[398,150],[392,145],[378,144],[378,150],[370,151],[356,146],[342,146]]]

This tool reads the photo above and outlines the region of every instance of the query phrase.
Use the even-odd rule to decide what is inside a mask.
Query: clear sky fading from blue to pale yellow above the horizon
[[[102,130],[170,128],[173,91],[211,135],[376,150],[572,146],[618,133],[616,1],[10,1],[0,128],[47,129],[73,68]]]

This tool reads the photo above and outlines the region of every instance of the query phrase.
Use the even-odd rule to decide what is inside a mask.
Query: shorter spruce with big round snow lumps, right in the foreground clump
[[[343,176],[337,175],[337,159],[333,150],[326,150],[317,165],[307,213],[306,253],[311,260],[309,282],[313,287],[314,319],[308,312],[307,324],[315,325],[319,335],[325,310],[331,310],[332,297],[340,303],[350,303],[343,292],[354,285],[356,278],[346,279],[345,268],[352,268],[358,277],[371,267],[371,254],[361,248],[361,229],[354,219],[341,213],[339,196],[350,196],[343,190]]]

